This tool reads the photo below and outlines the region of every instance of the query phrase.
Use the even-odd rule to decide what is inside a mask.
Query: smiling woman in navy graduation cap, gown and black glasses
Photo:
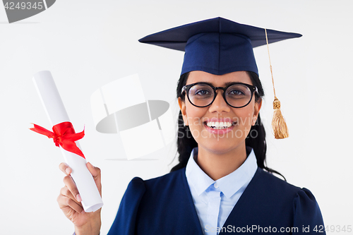
[[[268,30],[269,42],[300,36]],[[264,165],[263,88],[253,56],[253,47],[265,44],[264,30],[214,18],[140,42],[185,51],[177,88],[180,163],[155,179],[134,178],[109,234],[325,233],[311,192]],[[71,173],[65,164],[60,169]],[[100,170],[88,169],[101,188]],[[99,234],[100,210],[83,212],[73,181],[64,181],[58,202],[76,234]]]

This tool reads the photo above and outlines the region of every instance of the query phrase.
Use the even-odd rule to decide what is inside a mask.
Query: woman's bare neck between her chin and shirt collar
[[[228,152],[211,152],[198,146],[197,164],[214,181],[238,169],[245,160],[245,144]]]

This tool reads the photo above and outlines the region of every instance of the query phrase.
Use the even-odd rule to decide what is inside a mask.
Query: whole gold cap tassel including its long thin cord
[[[266,35],[266,42],[267,42],[267,49],[268,49],[268,38],[267,38],[267,30],[265,29]],[[268,49],[268,59],[270,59],[270,50]],[[275,100],[273,101],[273,119],[272,119],[272,128],[273,134],[275,135],[276,139],[284,139],[289,137],[289,131],[287,128],[287,124],[285,122],[285,118],[282,116],[281,112],[281,102],[276,97],[275,91],[275,82],[273,81],[273,72],[272,72],[272,65],[270,59],[270,71],[272,76],[272,85],[273,85],[273,93],[275,94]]]

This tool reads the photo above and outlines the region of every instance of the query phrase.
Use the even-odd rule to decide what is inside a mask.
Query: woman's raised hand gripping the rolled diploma
[[[93,167],[90,162],[87,164],[87,168],[92,174],[95,184],[97,185],[98,191],[102,196],[102,184],[100,182],[100,169]],[[80,194],[78,193],[76,184],[73,182],[70,174],[71,168],[68,167],[64,162],[59,165],[59,169],[63,171],[66,176],[64,177],[64,188],[61,188],[60,194],[56,199],[59,203],[60,209],[64,212],[65,216],[73,222],[75,226],[76,235],[79,234],[99,234],[100,233],[100,211],[86,213],[83,210]]]

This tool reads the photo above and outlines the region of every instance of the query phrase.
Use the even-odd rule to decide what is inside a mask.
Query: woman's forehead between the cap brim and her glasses
[[[186,85],[191,83],[206,82],[211,83],[213,86],[225,86],[226,83],[246,83],[253,85],[251,79],[246,71],[236,71],[232,73],[226,73],[223,75],[214,75],[212,73],[206,73],[203,71],[191,71],[189,78],[186,81]]]

